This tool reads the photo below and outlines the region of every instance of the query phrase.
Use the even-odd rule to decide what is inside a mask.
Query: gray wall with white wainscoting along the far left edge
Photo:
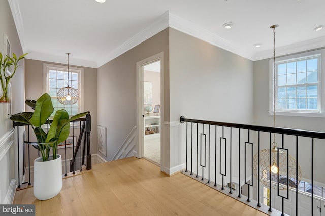
[[[8,4],[8,1],[0,1],[0,52],[4,53],[4,34],[7,35],[11,43],[11,52],[20,56],[23,54],[18,34],[16,31],[16,26],[11,14],[11,10]],[[20,62],[22,67],[18,68],[15,76],[10,80],[12,84],[12,112],[16,113],[18,111],[24,110],[24,60]],[[9,146],[9,143],[16,139],[16,132],[13,136],[7,137],[6,134],[12,128],[12,122],[10,119],[4,118],[5,114],[5,104],[0,103],[0,140],[8,138],[4,143],[0,143],[0,155],[3,155],[3,158],[0,159],[0,203],[4,202],[4,198],[9,189],[9,184],[12,179],[17,179],[18,182],[18,172],[16,172],[17,167],[17,147],[16,145],[11,145],[11,147],[5,152],[2,147]],[[21,132],[22,133],[22,132]],[[20,133],[20,134],[21,134]],[[20,149],[21,150],[21,149]],[[21,154],[22,155],[22,154]],[[20,164],[22,165],[22,164]],[[16,170],[15,170],[16,169]],[[7,203],[9,204],[9,203]]]

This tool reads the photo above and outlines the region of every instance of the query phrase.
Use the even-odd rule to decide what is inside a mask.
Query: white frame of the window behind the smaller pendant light
[[[63,65],[55,65],[55,64],[43,64],[43,93],[48,93],[48,87],[49,87],[49,71],[50,70],[68,70],[67,66]],[[78,99],[78,113],[84,112],[84,92],[83,92],[83,86],[84,86],[84,76],[83,68],[78,67],[70,67],[69,66],[69,72],[76,72],[78,73],[78,93],[79,93],[79,99]],[[79,81],[80,80],[80,81]],[[58,102],[59,103],[59,102]]]

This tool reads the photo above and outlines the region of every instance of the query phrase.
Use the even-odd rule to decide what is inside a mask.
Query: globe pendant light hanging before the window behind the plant
[[[61,104],[75,104],[79,99],[79,93],[75,88],[69,86],[69,55],[71,53],[66,54],[68,55],[68,83],[66,87],[61,88],[57,92],[57,100]],[[72,82],[72,77],[70,81]]]

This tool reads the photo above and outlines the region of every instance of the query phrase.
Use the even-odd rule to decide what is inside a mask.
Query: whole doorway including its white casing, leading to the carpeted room
[[[137,62],[138,158],[164,167],[164,53]],[[145,72],[149,71],[149,72]],[[152,96],[152,97],[151,97]],[[159,97],[160,96],[160,97]],[[152,108],[152,109],[151,109]]]

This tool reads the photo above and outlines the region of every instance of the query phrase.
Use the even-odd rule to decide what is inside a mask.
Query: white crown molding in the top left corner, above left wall
[[[19,0],[8,0],[8,3],[16,25],[21,48],[23,50],[23,53],[25,53],[25,34],[24,34],[24,26],[20,14]]]

